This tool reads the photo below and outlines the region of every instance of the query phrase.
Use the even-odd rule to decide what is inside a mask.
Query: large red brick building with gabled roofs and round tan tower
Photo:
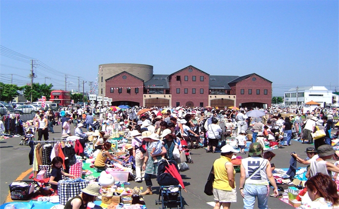
[[[109,71],[105,66],[109,66]],[[271,106],[272,82],[256,73],[241,77],[210,75],[190,65],[166,75],[153,74],[149,65],[117,64],[119,69],[114,66],[105,64],[99,69],[102,80],[99,96],[112,98],[112,105],[218,106],[220,109]],[[132,70],[126,70],[126,66]]]

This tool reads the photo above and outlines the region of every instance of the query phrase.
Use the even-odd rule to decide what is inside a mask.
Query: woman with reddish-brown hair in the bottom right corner
[[[297,209],[332,209],[339,204],[337,185],[330,176],[318,173],[309,178],[305,186],[312,202]]]

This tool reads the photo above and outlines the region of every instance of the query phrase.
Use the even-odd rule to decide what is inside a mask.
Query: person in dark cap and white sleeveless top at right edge
[[[339,173],[339,168],[333,165],[330,162],[325,160],[331,159],[332,156],[335,154],[335,151],[329,144],[324,144],[319,146],[318,150],[318,159],[311,161],[310,169],[306,173],[306,177],[309,178],[310,176],[315,176],[317,173],[326,174],[332,177],[331,172]]]

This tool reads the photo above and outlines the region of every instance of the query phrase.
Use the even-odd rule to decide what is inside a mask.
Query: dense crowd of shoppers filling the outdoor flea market
[[[88,136],[92,135],[94,130],[102,125],[118,123],[118,129],[125,131],[126,138],[131,142],[128,150],[135,158],[135,181],[144,181],[146,184],[146,191],[141,195],[153,193],[151,176],[157,174],[157,162],[163,158],[175,160],[174,151],[176,149],[183,151],[183,142],[185,142],[188,144],[188,149],[205,147],[207,153],[221,153],[221,157],[213,164],[215,209],[221,206],[224,209],[230,208],[231,203],[237,201],[235,171],[231,163],[234,153],[249,156],[243,158],[240,164],[239,192],[243,197],[244,208],[253,208],[256,198],[260,209],[267,208],[269,185],[273,186],[274,195],[278,195],[278,190],[272,175],[274,165],[270,164],[275,154],[270,151],[264,152],[265,145],[269,142],[278,142],[278,147],[282,148],[284,145],[291,145],[291,139],[298,136],[302,143],[314,143],[314,148],[309,147],[306,150],[308,159],[301,159],[297,154],[291,154],[300,163],[310,165],[307,173],[310,178],[306,186],[311,185],[308,182],[314,185],[321,181],[329,185],[329,189],[325,190],[332,191],[332,182],[326,181],[327,177],[323,177],[323,175],[331,176],[331,173],[327,171],[339,173],[337,165],[325,161],[331,157],[335,158],[336,155],[331,147],[331,129],[334,127],[331,112],[320,109],[320,111],[312,111],[304,116],[297,113],[282,117],[274,108],[261,110],[265,114],[254,118],[246,115],[250,111],[247,108],[220,110],[202,107],[152,107],[149,109],[133,107],[115,111],[109,107],[98,107],[94,110],[89,107],[65,108],[60,112],[53,112],[50,109],[47,112],[37,112],[34,121],[38,128],[38,140],[42,137],[48,140],[48,132],[54,133],[53,126],[61,125],[61,137],[78,136],[82,140],[80,143],[83,148]],[[98,119],[93,115],[96,115]],[[301,124],[299,135],[294,130],[295,122]],[[82,128],[86,128],[87,132],[84,133]],[[314,140],[312,134],[317,130],[323,130],[325,136]],[[107,168],[107,159],[120,163],[109,152],[111,149],[111,143],[107,141],[109,137],[101,131],[95,143],[95,148],[100,149],[94,163],[98,172]],[[232,137],[236,144],[232,146],[222,144],[229,137]],[[249,146],[246,145],[248,140],[251,141]],[[248,153],[245,152],[245,148],[248,148]],[[338,153],[337,157],[339,158]],[[59,164],[58,161],[54,165],[56,169]],[[311,200],[315,202],[313,205],[317,203],[324,207],[323,203],[331,206],[338,204],[338,194],[324,194],[318,186],[307,186],[307,188]],[[77,200],[72,201],[77,202]],[[309,205],[313,206],[312,203]]]

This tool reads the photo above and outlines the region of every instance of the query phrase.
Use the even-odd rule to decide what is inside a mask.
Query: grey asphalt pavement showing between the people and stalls
[[[83,129],[85,131],[85,129]],[[60,138],[61,136],[61,126],[54,126],[54,134],[50,133],[50,140],[53,138]],[[74,133],[74,128],[71,129]],[[38,134],[35,134],[36,139]],[[29,174],[23,174],[32,168],[29,165],[28,153],[30,151],[29,146],[19,145],[21,137],[14,137],[10,139],[4,139],[0,141],[0,202],[1,204],[6,202],[8,196],[9,187],[8,185],[16,180],[18,177],[20,179],[28,179]],[[292,141],[291,146],[285,146],[283,149],[276,149],[273,152],[276,154],[276,157],[273,158],[271,163],[274,163],[276,168],[288,168],[290,161],[290,153],[296,152],[301,158],[306,158],[305,150],[310,145],[301,144],[298,141]],[[240,155],[240,154],[238,154]],[[240,155],[242,157],[247,157],[246,155]],[[219,158],[219,153],[206,153],[203,148],[192,150],[191,158],[194,163],[188,164],[190,170],[182,172],[181,176],[183,178],[187,192],[182,191],[182,197],[186,209],[212,209],[209,202],[214,202],[213,196],[207,196],[204,192],[204,185],[206,183],[208,174],[211,170],[212,163],[215,159]],[[297,165],[298,167],[304,167],[302,164]],[[239,177],[240,174],[236,174],[236,185],[239,186]],[[153,182],[153,195],[144,196],[144,200],[148,209],[158,209],[159,205],[155,204],[155,200],[159,198],[159,185],[156,179],[152,179]],[[144,191],[146,189],[145,183],[136,183],[134,181],[130,182],[129,187],[134,188],[135,186],[143,187]],[[272,193],[272,191],[270,192]],[[240,193],[237,194],[238,201],[237,203],[232,203],[231,208],[240,209],[243,208],[242,197]],[[283,203],[278,198],[268,197],[268,207],[270,209],[293,209],[292,206]],[[9,198],[10,199],[10,198]],[[258,208],[258,204],[255,204],[255,208]]]

